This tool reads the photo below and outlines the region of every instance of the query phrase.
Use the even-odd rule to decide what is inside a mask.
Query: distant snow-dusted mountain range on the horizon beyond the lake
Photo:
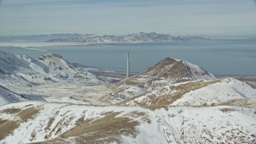
[[[172,41],[202,41],[209,38],[195,36],[172,36],[170,34],[143,33],[127,35],[95,35],[95,34],[42,34],[0,36],[0,42],[172,42]]]

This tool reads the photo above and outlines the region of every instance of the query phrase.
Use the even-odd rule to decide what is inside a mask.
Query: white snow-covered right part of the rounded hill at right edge
[[[191,90],[172,103],[175,106],[214,105],[231,100],[250,99],[256,104],[256,90],[234,78],[226,78],[198,90]]]

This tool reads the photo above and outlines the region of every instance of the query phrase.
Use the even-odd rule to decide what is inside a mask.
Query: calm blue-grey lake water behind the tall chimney
[[[126,54],[130,53],[130,69],[145,70],[166,57],[183,59],[219,75],[256,75],[256,40],[210,40],[200,42],[156,42],[136,44],[97,44],[79,46],[36,46],[40,50],[1,46],[0,50],[27,54],[61,54],[70,62],[95,66],[102,70],[125,71]]]

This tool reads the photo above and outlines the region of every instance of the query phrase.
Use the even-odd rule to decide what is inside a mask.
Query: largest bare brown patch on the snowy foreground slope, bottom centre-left
[[[103,114],[103,118],[98,119],[86,119],[82,116],[78,118],[73,129],[50,140],[50,142],[75,137],[75,141],[78,143],[121,143],[119,136],[122,134],[135,138],[137,135],[136,126],[139,122],[126,117],[116,117],[118,114],[120,113],[109,112]]]

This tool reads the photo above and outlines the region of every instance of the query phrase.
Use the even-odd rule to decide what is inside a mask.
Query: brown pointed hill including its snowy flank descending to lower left
[[[103,99],[106,102],[116,103],[178,82],[213,79],[215,79],[213,74],[190,62],[165,58],[140,74],[116,83],[110,89],[110,94]],[[127,93],[131,87],[134,89]]]

